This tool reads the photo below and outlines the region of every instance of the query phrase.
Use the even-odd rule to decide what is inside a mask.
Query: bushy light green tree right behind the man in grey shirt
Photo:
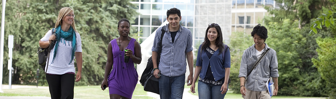
[[[267,18],[265,18],[267,20]],[[323,96],[324,87],[316,68],[311,68],[311,57],[316,43],[302,35],[298,28],[298,20],[293,23],[285,19],[282,23],[270,22],[268,30],[268,46],[277,51],[280,95]],[[313,46],[307,46],[313,45]],[[317,84],[317,85],[316,85]],[[314,91],[305,91],[314,90]]]

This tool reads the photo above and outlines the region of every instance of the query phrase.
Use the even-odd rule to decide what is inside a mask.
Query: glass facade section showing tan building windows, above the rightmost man
[[[263,6],[279,7],[273,0],[232,0],[232,32],[251,33],[268,14]]]

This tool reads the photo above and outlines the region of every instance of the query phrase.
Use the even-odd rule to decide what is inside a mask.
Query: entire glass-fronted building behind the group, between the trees
[[[250,33],[267,14],[263,5],[277,7],[273,0],[138,0],[135,23],[139,42],[144,41],[166,21],[166,12],[171,8],[181,10],[180,25],[191,30],[193,45],[204,41],[210,23],[220,25],[223,39],[229,40],[232,32]]]

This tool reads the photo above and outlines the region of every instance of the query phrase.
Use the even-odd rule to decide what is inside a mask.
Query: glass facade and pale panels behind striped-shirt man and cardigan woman
[[[141,15],[134,20],[132,27],[138,31],[139,41],[144,41],[160,25],[166,21],[167,10],[177,8],[181,11],[180,25],[191,30],[193,44],[202,43],[209,23],[220,25],[224,39],[230,35],[231,0],[139,0],[132,2],[138,5]]]

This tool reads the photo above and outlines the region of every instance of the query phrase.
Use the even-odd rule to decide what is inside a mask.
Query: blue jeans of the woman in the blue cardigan
[[[221,94],[222,86],[214,86],[212,84],[206,84],[204,82],[198,82],[198,97],[200,99],[224,99],[226,92]]]

